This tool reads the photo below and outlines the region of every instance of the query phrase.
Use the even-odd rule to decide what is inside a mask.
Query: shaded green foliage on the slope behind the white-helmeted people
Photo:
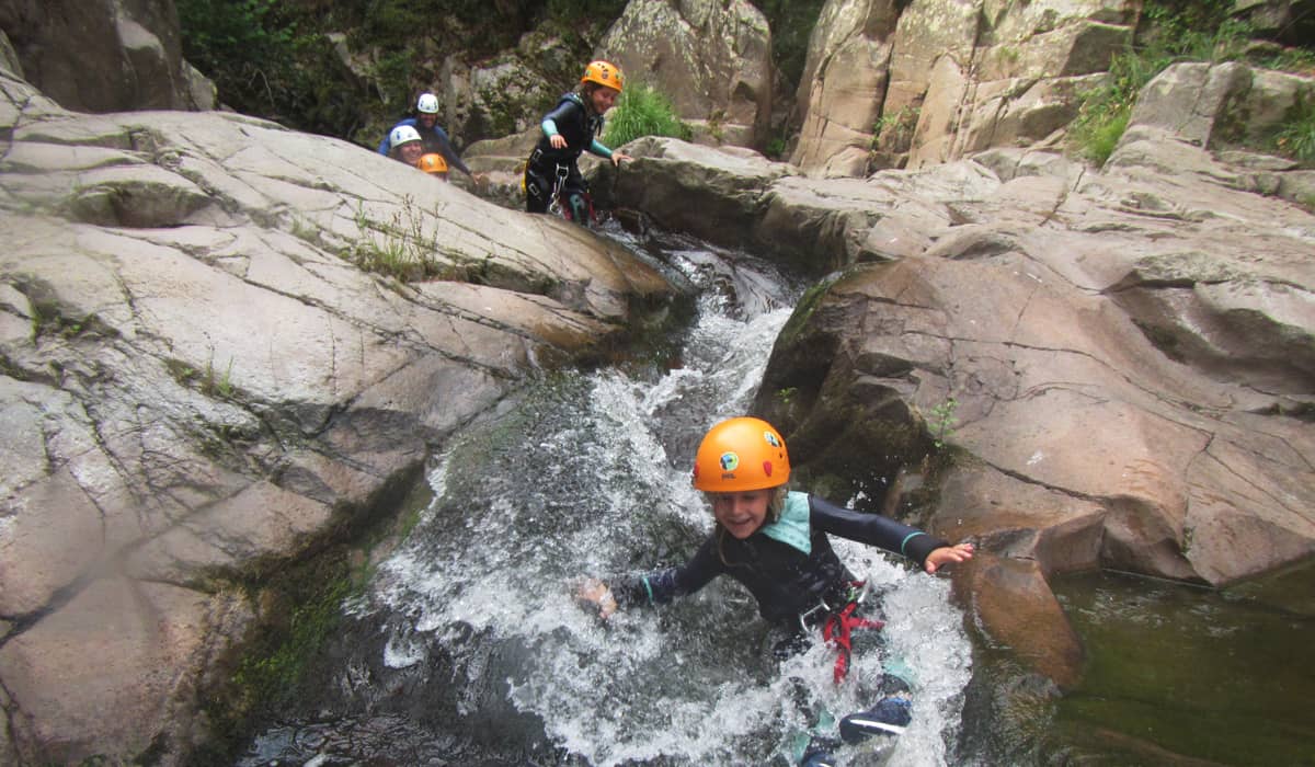
[[[625,0],[178,0],[183,55],[238,112],[308,133],[379,141],[450,54],[468,63],[543,29],[583,62]],[[348,61],[350,59],[350,61]],[[551,62],[547,62],[551,63]],[[466,139],[485,137],[462,137]]]

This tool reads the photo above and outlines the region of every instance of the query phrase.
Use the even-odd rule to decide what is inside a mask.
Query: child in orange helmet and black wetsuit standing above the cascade
[[[610,159],[614,166],[631,159],[598,141],[602,116],[617,103],[623,87],[621,70],[608,62],[590,62],[580,87],[565,93],[556,109],[543,117],[543,136],[525,163],[525,209],[530,213],[562,212],[588,225],[593,217],[589,184],[576,164],[585,151]]]

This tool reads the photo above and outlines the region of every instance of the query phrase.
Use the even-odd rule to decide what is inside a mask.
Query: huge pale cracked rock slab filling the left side
[[[267,617],[238,579],[669,296],[592,233],[342,141],[0,91],[0,763],[185,760],[216,659]]]

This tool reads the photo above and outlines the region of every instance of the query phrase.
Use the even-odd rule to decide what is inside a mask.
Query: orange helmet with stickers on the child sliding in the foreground
[[[761,418],[730,418],[713,426],[694,457],[694,487],[738,492],[785,484],[790,457],[781,433]]]

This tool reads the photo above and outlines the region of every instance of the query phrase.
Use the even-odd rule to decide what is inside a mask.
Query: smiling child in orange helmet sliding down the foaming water
[[[693,482],[713,507],[715,526],[682,566],[609,584],[586,580],[577,596],[606,618],[618,608],[665,604],[693,593],[718,575],[729,575],[757,600],[768,622],[786,628],[803,649],[818,630],[838,647],[835,680],[848,668],[853,631],[878,629],[864,617],[863,583],[831,549],[828,534],[902,554],[936,572],[972,559],[972,543],[951,546],[922,530],[880,514],[835,507],[803,492],[789,492],[790,459],[785,441],[767,421],[730,418],[713,426],[694,458]],[[800,642],[803,639],[803,642]],[[909,687],[893,675],[882,680],[884,696],[871,709],[840,721],[844,742],[871,735],[897,735],[911,718]],[[832,764],[836,742],[814,738],[801,764]]]

